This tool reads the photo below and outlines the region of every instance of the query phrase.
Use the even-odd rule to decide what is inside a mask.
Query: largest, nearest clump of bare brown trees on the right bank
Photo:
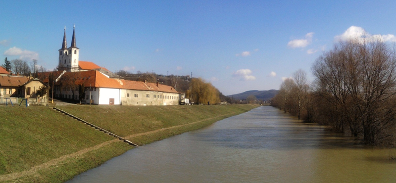
[[[393,140],[389,131],[396,122],[395,56],[381,40],[354,40],[339,43],[316,60],[315,93],[331,104],[316,107],[331,111],[325,116],[336,130],[347,127],[367,144]]]

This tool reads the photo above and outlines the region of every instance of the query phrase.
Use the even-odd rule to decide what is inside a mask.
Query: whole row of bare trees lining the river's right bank
[[[379,39],[337,43],[311,67],[283,81],[272,105],[307,122],[360,137],[364,143],[395,145],[396,49]]]

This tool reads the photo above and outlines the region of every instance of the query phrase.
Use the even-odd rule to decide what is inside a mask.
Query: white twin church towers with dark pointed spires
[[[75,26],[73,26],[73,37],[70,47],[67,47],[66,26],[65,26],[62,47],[59,49],[58,70],[66,70],[67,72],[79,71],[78,68],[79,51],[80,49],[76,46]]]

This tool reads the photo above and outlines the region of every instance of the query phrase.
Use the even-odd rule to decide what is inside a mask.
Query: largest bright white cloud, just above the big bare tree
[[[362,42],[364,39],[366,39],[366,41],[380,40],[382,42],[396,42],[396,37],[393,34],[371,35],[363,28],[356,26],[350,26],[342,35],[337,35],[334,37],[335,42],[347,40],[358,40],[359,42]]]

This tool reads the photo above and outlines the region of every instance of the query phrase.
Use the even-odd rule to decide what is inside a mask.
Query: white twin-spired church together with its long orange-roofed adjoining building
[[[179,105],[185,97],[171,86],[124,80],[93,62],[79,60],[75,26],[71,46],[67,47],[65,27],[58,51],[58,71],[39,73],[45,83],[54,86],[54,98],[78,101],[80,86],[85,88],[82,102],[97,105]]]

